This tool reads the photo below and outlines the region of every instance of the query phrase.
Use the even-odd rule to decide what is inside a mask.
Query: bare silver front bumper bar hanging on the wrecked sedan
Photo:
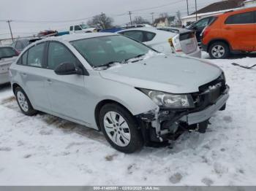
[[[225,93],[223,93],[217,100],[217,102],[200,112],[190,113],[181,118],[181,121],[187,122],[188,125],[197,124],[210,119],[219,109],[222,108],[229,98],[230,88],[227,86]]]

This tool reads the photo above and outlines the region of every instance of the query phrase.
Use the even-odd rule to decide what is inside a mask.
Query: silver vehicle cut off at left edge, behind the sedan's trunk
[[[0,85],[10,82],[9,67],[19,55],[13,47],[0,46]]]

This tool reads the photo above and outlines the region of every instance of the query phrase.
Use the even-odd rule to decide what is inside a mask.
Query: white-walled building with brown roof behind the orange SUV
[[[248,2],[246,2],[248,1]],[[223,12],[227,12],[230,10],[239,9],[241,7],[246,6],[246,4],[249,6],[251,4],[251,1],[255,0],[225,0],[225,1],[219,1],[213,4],[209,4],[206,7],[203,7],[203,9],[200,9],[197,11],[197,18],[196,18],[196,12],[193,12],[191,15],[187,17],[181,18],[181,23],[183,26],[190,25],[191,23],[194,23],[196,20],[200,20],[203,17],[209,17],[213,15],[220,15]]]

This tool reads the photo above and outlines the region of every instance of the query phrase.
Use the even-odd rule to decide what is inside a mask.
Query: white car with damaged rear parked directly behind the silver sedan
[[[118,34],[129,36],[138,42],[152,47],[165,54],[176,53],[201,58],[201,50],[198,47],[195,31],[184,28],[130,28],[118,31]]]

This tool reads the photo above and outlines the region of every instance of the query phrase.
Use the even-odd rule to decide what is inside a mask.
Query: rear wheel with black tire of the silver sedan
[[[20,107],[21,112],[23,114],[32,116],[34,114],[37,114],[37,110],[33,108],[31,105],[28,96],[24,92],[24,90],[21,87],[15,88],[15,97],[18,102],[18,106]]]

